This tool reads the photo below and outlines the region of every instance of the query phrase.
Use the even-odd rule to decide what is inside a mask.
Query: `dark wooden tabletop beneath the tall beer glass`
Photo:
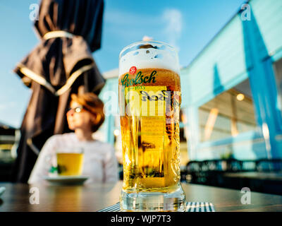
[[[0,183],[6,191],[1,211],[97,211],[118,202],[122,182],[82,186],[32,185],[39,189],[39,204],[30,204],[27,184]],[[214,203],[216,211],[282,211],[282,196],[251,192],[251,204],[243,205],[239,190],[183,184],[187,201]]]

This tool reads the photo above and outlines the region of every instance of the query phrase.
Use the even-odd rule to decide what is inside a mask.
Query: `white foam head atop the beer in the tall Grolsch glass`
[[[143,45],[152,47],[140,49]],[[138,69],[167,69],[179,74],[178,53],[164,42],[136,42],[125,47],[119,57],[119,76],[128,73],[132,66]]]

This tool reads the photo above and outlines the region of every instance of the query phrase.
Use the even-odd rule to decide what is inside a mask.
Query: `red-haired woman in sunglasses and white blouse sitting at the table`
[[[28,184],[42,182],[44,177],[49,176],[50,168],[56,166],[56,152],[72,148],[83,150],[82,175],[90,177],[87,183],[118,180],[118,163],[114,148],[108,143],[95,140],[92,136],[104,122],[103,108],[102,100],[93,93],[71,95],[71,108],[66,116],[68,127],[74,133],[54,135],[47,140],[32,169]]]

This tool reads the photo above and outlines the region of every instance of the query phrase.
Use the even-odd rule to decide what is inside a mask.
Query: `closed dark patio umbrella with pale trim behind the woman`
[[[13,182],[27,182],[47,138],[68,131],[71,94],[99,94],[104,86],[92,57],[101,46],[103,10],[103,0],[42,0],[35,21],[40,42],[14,69],[32,96],[20,129]]]

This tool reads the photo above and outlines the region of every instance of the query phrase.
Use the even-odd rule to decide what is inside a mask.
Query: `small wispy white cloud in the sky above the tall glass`
[[[182,13],[176,8],[169,8],[164,11],[162,18],[166,23],[165,32],[168,37],[168,42],[178,48],[177,40],[183,28]]]

